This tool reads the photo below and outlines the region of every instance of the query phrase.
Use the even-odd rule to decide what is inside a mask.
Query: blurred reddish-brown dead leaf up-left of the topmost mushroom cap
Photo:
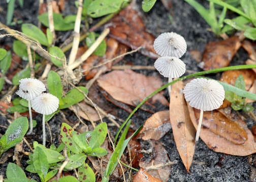
[[[115,16],[110,22],[110,36],[132,49],[143,46],[140,52],[150,58],[157,58],[153,48],[155,37],[146,31],[138,12],[132,5]]]

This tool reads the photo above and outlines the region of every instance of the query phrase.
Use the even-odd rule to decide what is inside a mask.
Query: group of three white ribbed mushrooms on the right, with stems
[[[154,66],[160,74],[169,78],[169,82],[172,78],[178,78],[185,73],[185,64],[179,58],[186,52],[187,45],[181,35],[174,32],[162,33],[154,40],[153,47],[155,52],[162,56],[155,61]],[[171,86],[168,89],[171,94]],[[203,111],[218,109],[225,98],[225,90],[215,80],[196,78],[185,85],[183,93],[188,104],[201,111],[196,134],[197,142]]]

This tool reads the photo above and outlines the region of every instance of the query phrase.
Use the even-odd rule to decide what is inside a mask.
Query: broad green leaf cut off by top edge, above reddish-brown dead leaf
[[[101,17],[120,10],[123,0],[95,0],[87,9],[87,14],[93,18]]]

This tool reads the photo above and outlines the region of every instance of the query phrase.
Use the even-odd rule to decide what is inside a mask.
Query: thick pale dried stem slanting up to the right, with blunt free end
[[[100,43],[104,40],[104,38],[108,35],[109,28],[106,28],[102,34],[97,38],[97,40],[91,45],[91,47],[80,57],[78,58],[73,64],[69,65],[67,68],[70,70],[75,69],[79,65],[81,65],[94,51],[98,48]]]

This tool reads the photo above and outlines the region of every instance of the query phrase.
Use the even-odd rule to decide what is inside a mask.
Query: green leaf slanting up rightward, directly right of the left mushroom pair
[[[88,89],[84,86],[78,86],[85,94],[88,93]],[[81,102],[85,98],[84,94],[81,93],[77,88],[71,89],[65,97],[59,100],[59,109],[68,108],[76,103]]]

